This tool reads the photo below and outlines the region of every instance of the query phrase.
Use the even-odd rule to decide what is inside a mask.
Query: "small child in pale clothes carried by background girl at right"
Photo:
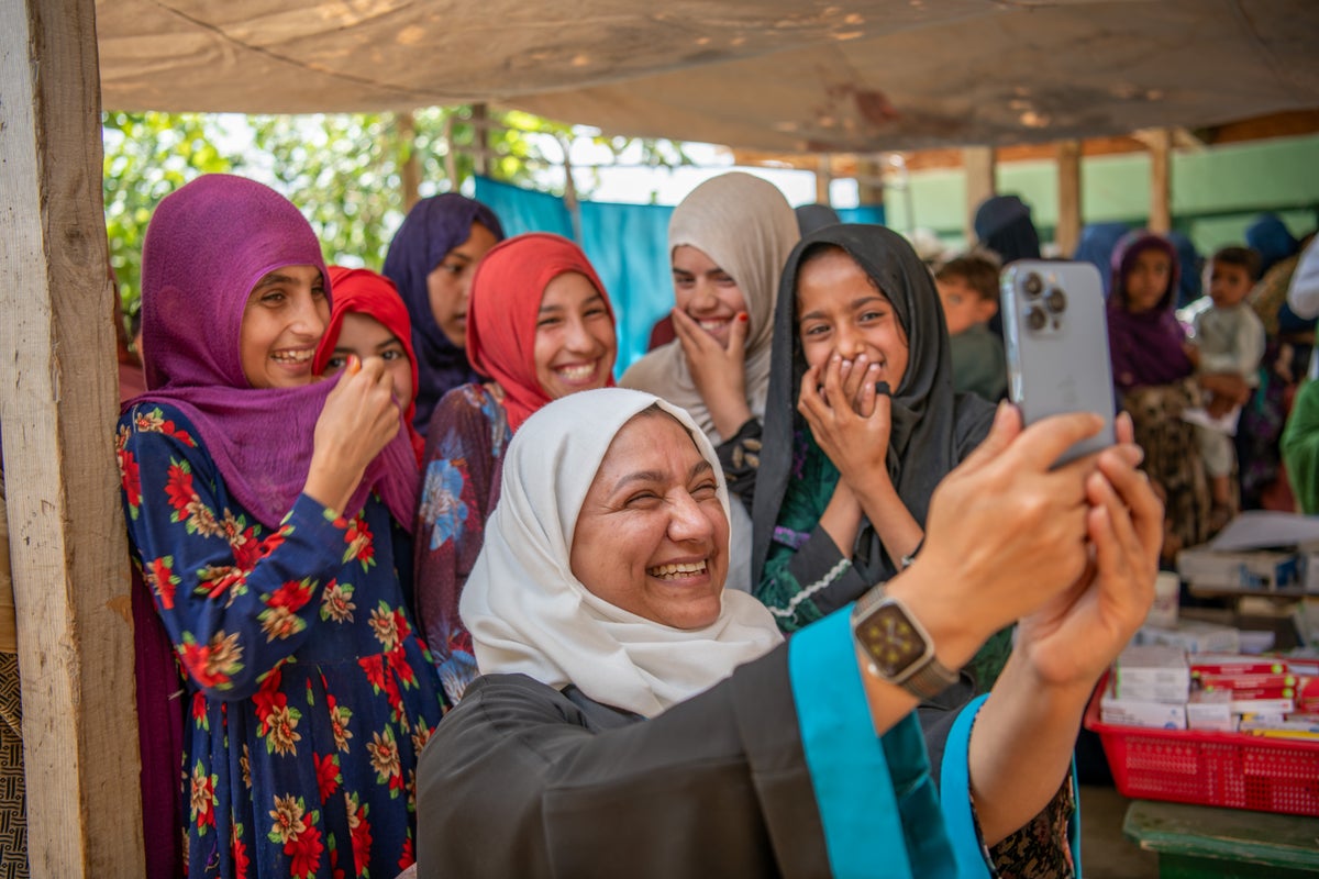
[[[1246,385],[1260,383],[1260,360],[1264,357],[1264,323],[1245,298],[1254,286],[1260,270],[1260,256],[1249,248],[1223,248],[1206,266],[1210,295],[1200,297],[1181,314],[1192,327],[1187,341],[1187,356],[1200,373],[1236,373]],[[1232,401],[1211,398],[1207,403],[1211,419],[1235,423],[1240,406]],[[1220,530],[1236,514],[1231,486],[1236,452],[1229,431],[1221,427],[1196,426],[1200,456],[1213,493],[1210,527]]]

